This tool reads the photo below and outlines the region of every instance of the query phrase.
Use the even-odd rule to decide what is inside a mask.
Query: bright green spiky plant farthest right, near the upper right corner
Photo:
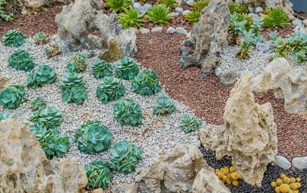
[[[267,14],[260,14],[262,18],[264,18],[264,27],[265,28],[275,28],[278,27],[284,28],[287,27],[290,23],[290,19],[288,18],[288,14],[281,8],[267,8]]]

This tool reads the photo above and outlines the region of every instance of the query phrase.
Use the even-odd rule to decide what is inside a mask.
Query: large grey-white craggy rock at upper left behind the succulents
[[[133,57],[137,52],[135,30],[123,30],[116,12],[107,16],[103,10],[97,11],[92,2],[76,0],[63,6],[62,12],[56,15],[58,35],[65,41],[63,52],[106,50],[116,41],[125,56]],[[101,37],[91,35],[95,30],[101,33]]]

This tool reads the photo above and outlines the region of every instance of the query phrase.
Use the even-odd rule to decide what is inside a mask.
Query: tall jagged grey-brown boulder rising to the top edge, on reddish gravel
[[[191,37],[180,47],[179,63],[182,67],[200,67],[202,78],[214,72],[221,61],[222,47],[227,39],[227,10],[226,0],[209,1],[208,7],[202,10],[200,21],[194,23]]]

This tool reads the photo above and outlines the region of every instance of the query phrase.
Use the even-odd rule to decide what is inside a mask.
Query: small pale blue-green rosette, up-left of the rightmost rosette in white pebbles
[[[160,96],[157,98],[153,111],[157,116],[165,115],[167,113],[176,112],[176,105],[167,96]]]

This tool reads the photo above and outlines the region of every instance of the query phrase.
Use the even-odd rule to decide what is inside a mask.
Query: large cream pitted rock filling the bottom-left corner
[[[75,160],[51,161],[24,122],[0,122],[0,192],[79,192],[87,184]]]

